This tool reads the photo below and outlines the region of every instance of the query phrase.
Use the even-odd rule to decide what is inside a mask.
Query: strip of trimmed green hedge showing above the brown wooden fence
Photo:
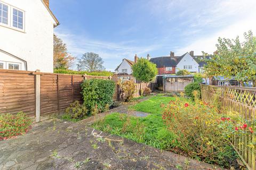
[[[65,69],[54,69],[54,73],[60,73],[60,74],[87,74],[87,75],[93,75],[93,76],[112,76],[113,73],[109,71],[98,71],[98,72],[87,72],[87,71],[73,71],[73,70],[65,70]]]

